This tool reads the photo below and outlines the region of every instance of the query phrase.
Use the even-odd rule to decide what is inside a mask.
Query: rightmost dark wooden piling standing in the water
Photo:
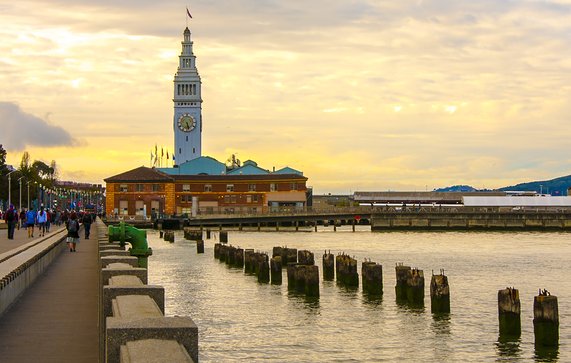
[[[533,332],[536,346],[559,345],[559,308],[557,296],[540,290],[533,298]]]

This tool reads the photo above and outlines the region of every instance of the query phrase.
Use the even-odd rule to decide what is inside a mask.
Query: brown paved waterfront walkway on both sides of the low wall
[[[0,317],[2,363],[99,361],[97,228],[89,240],[80,232],[77,252],[66,249]],[[13,241],[0,230],[0,253],[31,241],[25,230]]]

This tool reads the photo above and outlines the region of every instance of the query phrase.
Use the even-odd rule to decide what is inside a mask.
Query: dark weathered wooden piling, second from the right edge
[[[521,335],[521,303],[518,289],[506,287],[498,291],[498,319],[500,337]]]

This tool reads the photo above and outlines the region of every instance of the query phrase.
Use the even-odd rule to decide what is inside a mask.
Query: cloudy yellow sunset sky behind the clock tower
[[[314,194],[571,174],[571,0],[0,0],[8,163],[103,183],[172,151],[186,6],[203,155]]]

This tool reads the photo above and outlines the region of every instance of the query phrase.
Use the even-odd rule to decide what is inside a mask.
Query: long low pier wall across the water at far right
[[[371,230],[555,229],[571,230],[571,213],[387,213],[371,216]]]

